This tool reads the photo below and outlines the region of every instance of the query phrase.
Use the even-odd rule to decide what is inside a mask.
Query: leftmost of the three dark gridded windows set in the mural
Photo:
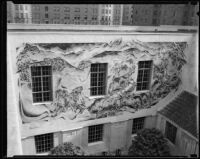
[[[31,76],[33,103],[52,101],[52,67],[32,66]]]

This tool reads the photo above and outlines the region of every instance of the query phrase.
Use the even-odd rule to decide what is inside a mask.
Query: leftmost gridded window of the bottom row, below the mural
[[[49,135],[49,137],[50,137],[49,142],[47,142],[45,140],[47,138],[47,135]],[[40,138],[40,140],[39,140],[39,138]],[[42,139],[42,138],[44,138],[44,139]],[[42,142],[41,140],[45,141],[45,142]],[[36,152],[36,154],[47,153],[47,152],[49,152],[55,146],[55,143],[54,143],[54,133],[47,133],[47,134],[35,135],[34,136],[34,142],[35,142],[35,152]],[[38,145],[39,143],[43,144],[43,146],[44,146],[43,149],[42,149],[41,145]],[[39,147],[40,147],[40,149],[39,149]]]

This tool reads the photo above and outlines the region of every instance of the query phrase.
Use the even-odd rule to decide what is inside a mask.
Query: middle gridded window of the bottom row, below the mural
[[[89,126],[88,143],[103,140],[103,124]]]

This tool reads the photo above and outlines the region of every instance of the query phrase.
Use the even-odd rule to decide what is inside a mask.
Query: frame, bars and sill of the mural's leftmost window
[[[51,67],[51,74],[50,75],[48,75],[48,77],[50,76],[51,77],[51,79],[50,79],[50,81],[51,81],[51,83],[49,84],[50,85],[50,100],[49,101],[44,101],[44,99],[43,99],[43,97],[42,97],[42,101],[37,101],[37,102],[34,102],[34,97],[33,97],[33,94],[34,93],[37,93],[37,92],[33,92],[33,80],[32,80],[32,70],[31,70],[31,68],[32,67],[44,67],[44,66],[50,66]],[[37,65],[32,65],[32,66],[30,66],[30,68],[29,68],[29,72],[30,72],[30,82],[31,82],[31,91],[32,91],[32,104],[33,105],[39,105],[39,104],[48,104],[48,103],[52,103],[53,102],[53,68],[52,68],[52,66],[51,65],[42,65],[42,66],[37,66]],[[41,78],[42,77],[44,77],[44,76],[40,76]],[[41,82],[42,83],[42,82]],[[41,84],[41,88],[42,88],[42,90],[43,90],[43,84]],[[43,91],[38,91],[38,92],[41,92],[41,93],[44,93]]]

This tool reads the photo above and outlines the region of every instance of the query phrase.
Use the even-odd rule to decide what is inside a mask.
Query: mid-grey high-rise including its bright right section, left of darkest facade
[[[33,23],[120,25],[121,5],[32,5]]]

